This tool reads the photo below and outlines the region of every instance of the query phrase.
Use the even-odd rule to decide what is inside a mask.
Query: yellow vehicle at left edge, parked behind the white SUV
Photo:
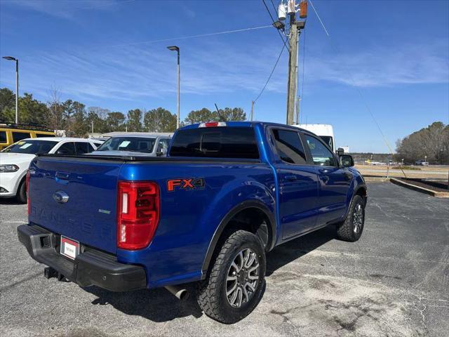
[[[25,124],[0,124],[0,150],[25,138],[55,137],[53,131]]]

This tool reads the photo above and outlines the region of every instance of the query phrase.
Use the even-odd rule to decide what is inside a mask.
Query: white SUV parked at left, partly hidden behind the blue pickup
[[[27,138],[0,152],[0,198],[16,197],[27,202],[25,176],[36,154],[85,154],[97,150],[100,140],[86,138]]]

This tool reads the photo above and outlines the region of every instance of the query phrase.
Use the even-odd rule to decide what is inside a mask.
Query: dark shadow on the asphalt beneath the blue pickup
[[[267,254],[267,277],[280,267],[326,244],[331,239],[335,239],[335,227],[328,226],[277,246]],[[183,301],[178,300],[163,288],[126,293],[114,293],[97,286],[86,287],[84,290],[98,297],[92,301],[93,305],[112,305],[126,315],[138,315],[153,322],[167,322],[180,317],[199,318],[203,315],[196,303],[195,285],[187,284],[186,288],[190,291],[190,296]]]

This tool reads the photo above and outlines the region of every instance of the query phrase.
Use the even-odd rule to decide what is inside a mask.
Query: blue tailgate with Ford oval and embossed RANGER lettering
[[[29,221],[116,253],[116,188],[122,164],[120,160],[37,157],[29,166]]]

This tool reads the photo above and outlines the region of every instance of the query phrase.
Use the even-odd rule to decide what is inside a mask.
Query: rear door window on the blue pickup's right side
[[[281,129],[273,130],[274,143],[279,157],[290,164],[307,164],[299,133]]]

